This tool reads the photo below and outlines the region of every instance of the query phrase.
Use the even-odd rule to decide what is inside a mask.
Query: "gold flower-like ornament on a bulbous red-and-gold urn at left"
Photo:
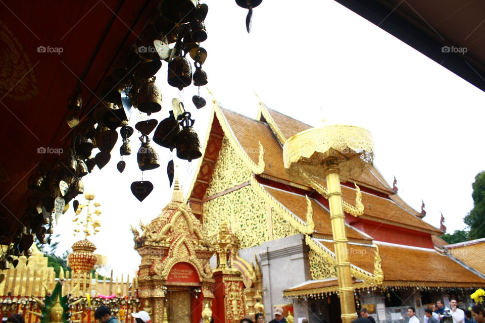
[[[101,204],[93,203],[95,210],[91,212],[91,202],[94,199],[94,194],[86,193],[84,198],[87,203],[79,205],[76,210],[76,219],[73,220],[73,222],[77,222],[78,227],[83,228],[84,240],[75,242],[72,245],[73,252],[68,256],[72,273],[80,276],[87,275],[96,264],[96,261],[98,261],[98,257],[93,253],[96,250],[96,246],[87,240],[87,237],[100,232],[98,228],[101,226],[100,221],[97,219],[101,214],[101,211],[98,209]],[[85,220],[80,220],[83,209],[86,210],[86,218]],[[78,233],[80,233],[80,229],[74,229],[74,236]]]

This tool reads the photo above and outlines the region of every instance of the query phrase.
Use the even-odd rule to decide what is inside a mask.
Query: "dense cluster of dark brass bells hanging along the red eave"
[[[207,73],[202,69],[207,51],[200,46],[207,39],[204,24],[207,13],[208,6],[200,4],[198,0],[162,1],[136,44],[119,58],[116,67],[102,82],[102,99],[82,123],[79,123],[81,90],[80,85],[76,85],[67,100],[66,121],[71,128],[75,128],[71,147],[48,175],[41,168],[37,168],[29,177],[27,186],[31,191],[21,219],[22,226],[15,233],[11,245],[0,256],[0,270],[7,269],[10,264],[16,266],[18,261],[15,261],[14,256],[30,255],[29,248],[34,235],[41,243],[51,242],[53,214],[58,216],[65,213],[69,208],[68,203],[84,193],[83,176],[91,173],[95,166],[102,169],[108,164],[110,152],[118,139],[117,128],[120,128],[123,139],[120,155],[131,153],[128,138],[133,134],[133,128],[127,122],[132,107],[149,116],[162,110],[162,95],[155,85],[154,76],[162,67],[162,60],[168,62],[169,85],[181,90],[192,81],[198,87],[208,83]],[[170,44],[174,44],[172,48],[169,47]],[[193,73],[188,57],[194,61]],[[192,102],[197,109],[206,105],[205,99],[199,95],[194,95]],[[180,115],[175,116],[170,112],[160,123],[156,119],[150,119],[135,126],[142,134],[141,147],[137,154],[141,171],[160,166],[158,154],[150,145],[148,137],[157,123],[158,127],[153,135],[155,143],[171,150],[176,149],[176,155],[181,159],[191,161],[201,157],[199,137],[192,128],[194,120],[189,112],[184,111],[183,105],[180,105]],[[91,151],[95,147],[100,152],[92,157]],[[117,165],[120,172],[124,170],[124,163],[122,160]],[[173,161],[171,167],[169,162],[167,168],[168,171],[172,168],[172,174],[169,172],[171,182]],[[137,182],[133,184],[135,183]],[[141,201],[142,198],[135,194],[139,193],[139,187],[133,187],[133,184],[132,192]],[[76,210],[79,205],[77,200],[72,204]]]

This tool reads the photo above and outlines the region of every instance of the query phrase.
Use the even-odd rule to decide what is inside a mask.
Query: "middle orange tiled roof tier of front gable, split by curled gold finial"
[[[263,186],[278,202],[290,210],[293,214],[302,220],[306,220],[307,200],[305,196],[275,189],[269,186]],[[315,231],[320,234],[332,236],[332,227],[330,223],[330,213],[325,210],[314,199],[310,199],[313,208],[313,222]],[[347,237],[359,240],[371,240],[369,237],[361,234],[352,227],[347,227]]]

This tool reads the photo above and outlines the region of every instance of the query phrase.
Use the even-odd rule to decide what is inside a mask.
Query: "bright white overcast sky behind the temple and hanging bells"
[[[442,211],[448,232],[465,227],[462,218],[473,206],[471,184],[485,169],[481,90],[331,0],[304,6],[265,0],[254,9],[250,35],[245,28],[247,10],[234,1],[207,4],[209,38],[202,45],[209,56],[203,67],[208,87],[224,107],[255,118],[254,90],[272,109],[308,124],[318,126],[324,118],[329,124],[362,126],[373,135],[376,167],[391,184],[396,176],[399,194],[415,209],[420,210],[424,200],[425,221],[439,227]],[[163,62],[157,80],[163,107],[153,115],[158,120],[168,116],[171,99],[179,97],[166,83],[166,70]],[[196,93],[190,86],[181,97],[204,142],[212,97],[201,89],[208,105],[197,111],[191,103]],[[133,124],[140,118],[136,115]],[[123,174],[116,170],[120,146],[121,141],[103,170],[96,168],[95,175],[83,181],[86,191],[95,193],[95,201],[102,204],[101,232],[90,237],[98,246],[96,253],[108,256],[115,275],[132,277],[140,257],[133,249],[129,224],[137,225],[139,219],[150,222],[169,202],[169,153],[153,143],[161,167],[144,172],[155,189],[140,203],[130,191],[131,182],[141,178],[136,133]],[[185,160],[175,158],[185,193],[197,163],[188,167]],[[59,253],[80,238],[69,233],[72,219],[70,209],[57,226],[62,237]]]

